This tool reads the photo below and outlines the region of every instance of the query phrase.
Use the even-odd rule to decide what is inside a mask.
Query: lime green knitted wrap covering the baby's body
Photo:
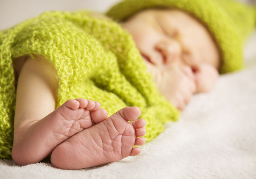
[[[159,95],[131,36],[112,20],[87,11],[46,12],[0,32],[0,158],[11,159],[16,81],[13,59],[46,57],[57,70],[57,106],[68,99],[96,100],[109,114],[138,106],[147,141],[179,116]]]

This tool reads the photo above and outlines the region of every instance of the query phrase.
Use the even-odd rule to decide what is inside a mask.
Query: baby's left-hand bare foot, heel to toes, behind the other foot
[[[97,101],[68,100],[26,130],[22,143],[14,146],[15,162],[19,165],[38,163],[61,142],[107,117],[108,112],[100,109]]]

